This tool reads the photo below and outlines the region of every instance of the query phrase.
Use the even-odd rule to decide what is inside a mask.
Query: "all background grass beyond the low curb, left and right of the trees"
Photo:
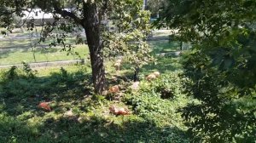
[[[154,31],[156,36],[166,35],[170,31]],[[12,36],[24,36],[28,33],[11,33]],[[6,37],[8,39],[9,37]],[[67,43],[74,43],[73,37],[67,37]],[[46,40],[45,43],[42,43],[43,46],[48,47],[51,40]],[[36,43],[36,40],[33,40],[32,43]],[[179,43],[173,42],[169,43],[168,40],[161,41],[150,41],[148,42],[150,47],[153,49],[154,54],[172,52],[179,49]],[[8,49],[7,49],[8,48]],[[27,63],[31,62],[41,62],[41,61],[55,61],[55,60],[74,60],[74,59],[84,59],[88,57],[88,46],[87,45],[76,45],[74,51],[71,50],[71,53],[67,55],[66,51],[61,51],[61,46],[51,49],[43,49],[40,46],[35,49],[34,55],[30,46],[29,39],[20,39],[20,40],[1,40],[0,42],[0,65],[10,65],[10,64],[20,64],[21,61],[26,61]],[[76,52],[79,55],[73,55],[72,53]]]

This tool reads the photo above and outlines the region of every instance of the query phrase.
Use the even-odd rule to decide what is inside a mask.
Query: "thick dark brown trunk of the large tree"
[[[94,89],[96,94],[102,94],[102,91],[105,89],[105,68],[103,65],[100,21],[95,3],[84,3],[83,26],[90,49],[90,64]]]

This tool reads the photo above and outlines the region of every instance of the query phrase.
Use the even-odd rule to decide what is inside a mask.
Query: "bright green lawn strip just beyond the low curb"
[[[5,43],[5,42],[1,42]],[[7,43],[6,43],[7,44]],[[24,43],[14,42],[12,48],[24,46],[26,47],[29,44],[27,41]],[[149,41],[148,44],[152,47],[154,54],[172,52],[179,49],[179,43],[173,42],[169,43],[168,40],[161,41]],[[7,44],[8,45],[8,44]],[[19,47],[19,48],[20,48]],[[73,54],[78,53],[78,54]],[[32,49],[21,48],[21,49],[8,49],[0,51],[0,65],[9,65],[9,64],[20,64],[21,61],[26,61],[27,63],[31,62],[41,62],[41,61],[55,61],[55,60],[75,60],[75,59],[84,59],[89,54],[89,49],[87,45],[75,45],[75,48],[70,51],[68,54],[67,51],[61,51],[61,47],[43,49],[35,49],[35,58],[33,58]],[[68,55],[67,55],[68,54]]]

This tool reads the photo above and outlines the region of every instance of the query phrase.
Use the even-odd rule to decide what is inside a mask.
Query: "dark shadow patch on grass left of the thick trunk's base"
[[[0,83],[0,112],[19,116],[24,112],[38,113],[38,103],[53,101],[71,102],[83,100],[90,95],[91,77],[79,71],[74,73],[52,73],[49,77],[17,77]]]

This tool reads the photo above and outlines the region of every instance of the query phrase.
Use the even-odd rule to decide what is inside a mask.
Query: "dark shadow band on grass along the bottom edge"
[[[37,122],[37,121],[35,121]],[[187,142],[185,132],[177,127],[157,127],[148,119],[128,118],[122,124],[103,117],[46,118],[28,125],[17,119],[1,121],[0,141],[18,142]]]

